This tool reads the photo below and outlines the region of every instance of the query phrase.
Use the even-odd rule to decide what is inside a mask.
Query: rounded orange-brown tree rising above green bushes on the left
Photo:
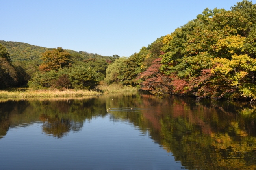
[[[46,51],[42,54],[43,63],[39,66],[40,71],[57,71],[59,68],[71,66],[71,54],[58,47],[51,51]]]

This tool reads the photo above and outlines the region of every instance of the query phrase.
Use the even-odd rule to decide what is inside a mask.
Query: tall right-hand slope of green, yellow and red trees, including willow
[[[256,5],[208,9],[107,69],[109,83],[155,94],[256,99]],[[114,64],[115,64],[114,63]]]

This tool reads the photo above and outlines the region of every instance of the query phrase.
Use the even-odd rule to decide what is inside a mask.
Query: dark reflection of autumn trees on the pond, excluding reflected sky
[[[43,132],[59,139],[82,130],[84,121],[108,114],[148,134],[185,168],[256,168],[256,105],[247,102],[149,94],[2,101],[0,138],[10,126],[41,121]]]

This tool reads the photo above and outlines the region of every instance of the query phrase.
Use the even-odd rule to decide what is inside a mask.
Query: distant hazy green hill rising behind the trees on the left
[[[0,44],[6,47],[12,61],[21,60],[21,61],[28,61],[28,60],[37,60],[41,61],[41,54],[45,51],[52,50],[52,48],[46,47],[39,47],[36,45],[31,45],[28,43],[23,42],[13,42],[13,41],[4,41],[0,40]],[[57,48],[57,47],[56,47]],[[89,58],[109,58],[108,56],[102,56],[99,54],[88,53],[85,51],[74,51],[74,50],[67,50],[70,54],[79,53],[84,60]]]

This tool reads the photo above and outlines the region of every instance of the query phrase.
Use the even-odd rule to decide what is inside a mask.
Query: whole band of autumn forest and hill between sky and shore
[[[0,41],[0,88],[84,89],[99,82],[153,94],[256,99],[256,4],[208,9],[125,58]]]

